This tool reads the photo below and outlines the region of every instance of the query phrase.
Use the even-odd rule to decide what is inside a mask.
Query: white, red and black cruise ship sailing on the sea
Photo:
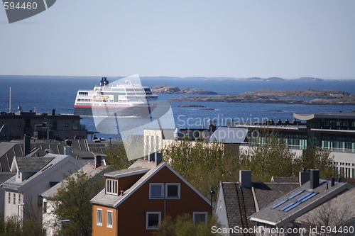
[[[155,108],[158,96],[147,86],[129,80],[109,85],[107,77],[92,90],[80,89],[74,114],[94,117],[147,117]]]

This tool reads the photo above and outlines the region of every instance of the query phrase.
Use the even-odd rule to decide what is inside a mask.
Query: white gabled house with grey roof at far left
[[[13,157],[10,171],[15,176],[1,184],[5,191],[4,217],[41,220],[38,195],[62,181],[65,174],[82,164],[70,155],[46,154],[44,157]]]

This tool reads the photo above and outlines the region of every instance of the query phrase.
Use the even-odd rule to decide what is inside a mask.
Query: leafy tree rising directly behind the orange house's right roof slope
[[[219,181],[236,181],[241,167],[238,152],[204,140],[175,141],[163,150],[163,158],[204,196],[218,189]]]

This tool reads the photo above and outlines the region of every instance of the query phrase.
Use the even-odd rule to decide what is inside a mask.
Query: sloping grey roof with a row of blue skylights
[[[339,182],[336,182],[334,186],[330,186],[330,181],[321,179],[320,186],[310,189],[310,181],[308,181],[251,215],[251,220],[280,227],[307,213],[308,210],[319,206],[324,201],[337,196],[342,191],[351,188],[350,184]],[[310,196],[310,198],[307,196]]]

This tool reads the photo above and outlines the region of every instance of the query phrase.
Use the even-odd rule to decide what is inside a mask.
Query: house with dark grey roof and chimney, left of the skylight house
[[[251,171],[241,170],[239,182],[221,182],[217,193],[215,214],[221,227],[215,232],[223,235],[255,235],[240,229],[253,229],[250,216],[280,196],[299,187],[298,182],[253,182]]]

